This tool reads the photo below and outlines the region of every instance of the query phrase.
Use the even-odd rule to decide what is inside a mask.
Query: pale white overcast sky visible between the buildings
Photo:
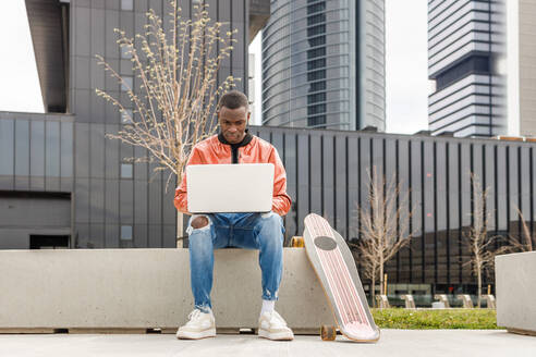
[[[0,111],[44,112],[24,0],[0,1]],[[255,53],[255,123],[260,120],[260,35]],[[427,2],[386,0],[388,133],[427,130]]]

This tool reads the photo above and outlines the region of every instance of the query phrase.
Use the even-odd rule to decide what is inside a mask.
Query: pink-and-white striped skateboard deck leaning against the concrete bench
[[[328,221],[310,213],[303,234],[307,257],[320,281],[340,332],[357,342],[376,342],[374,322],[354,257],[342,236]]]

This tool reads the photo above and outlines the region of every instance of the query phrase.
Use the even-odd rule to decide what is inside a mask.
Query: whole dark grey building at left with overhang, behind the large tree
[[[206,0],[209,16],[236,28],[218,79],[247,78],[247,45],[269,16],[268,0]],[[196,0],[180,0],[192,17]],[[176,210],[167,173],[154,173],[139,147],[108,139],[124,124],[96,88],[132,103],[97,64],[101,54],[138,87],[114,28],[144,34],[146,12],[167,0],[27,0],[26,10],[46,113],[0,112],[0,249],[176,246]],[[237,89],[247,91],[247,82]]]

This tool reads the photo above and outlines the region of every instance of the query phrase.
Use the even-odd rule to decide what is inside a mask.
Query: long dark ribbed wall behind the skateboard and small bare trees
[[[470,251],[462,244],[472,224],[471,172],[489,187],[490,234],[519,237],[517,207],[525,220],[534,220],[533,143],[279,127],[252,132],[272,141],[285,164],[293,199],[285,217],[287,241],[303,234],[309,212],[326,217],[349,241],[357,239],[356,208],[367,205],[369,172],[376,168],[387,180],[394,177],[409,195],[414,210],[410,230],[416,232],[411,247],[388,263],[395,282],[473,283],[471,269],[463,266]],[[528,226],[536,229],[531,222]]]

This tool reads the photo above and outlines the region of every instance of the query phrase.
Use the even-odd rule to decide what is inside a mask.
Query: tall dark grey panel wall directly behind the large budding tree
[[[183,17],[192,17],[191,0],[179,1]],[[194,1],[195,2],[195,1]],[[175,219],[173,207],[174,180],[166,185],[168,172],[154,174],[153,167],[136,163],[122,175],[125,159],[143,157],[146,152],[105,137],[121,130],[117,108],[95,95],[95,89],[107,90],[126,107],[132,104],[115,79],[97,65],[95,54],[123,76],[132,75],[132,64],[122,58],[114,28],[127,36],[145,34],[145,13],[154,9],[158,14],[171,11],[168,0],[71,1],[71,108],[75,124],[75,188],[74,225],[75,247],[174,247]],[[237,28],[232,59],[227,60],[218,74],[245,78],[247,67],[247,9],[245,0],[206,1],[214,21],[229,23]],[[170,20],[163,20],[165,26]],[[226,29],[227,30],[227,29]],[[133,78],[137,87],[137,78]],[[239,82],[239,89],[245,81]],[[53,149],[53,148],[52,148]],[[123,227],[123,230],[122,230]],[[126,238],[122,232],[132,232]]]

